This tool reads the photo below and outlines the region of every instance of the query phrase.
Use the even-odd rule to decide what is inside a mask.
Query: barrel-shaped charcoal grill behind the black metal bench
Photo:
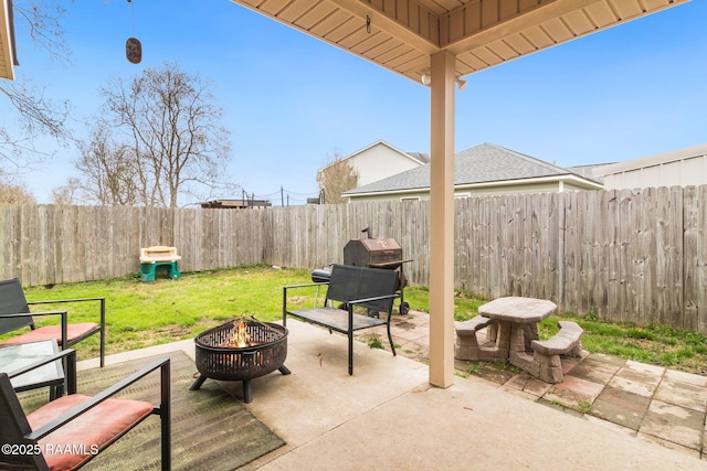
[[[351,239],[344,246],[344,265],[398,270],[400,313],[407,314],[410,311],[410,304],[404,301],[403,290],[408,286],[408,278],[403,274],[402,266],[412,260],[403,259],[402,248],[394,238],[371,237],[368,227],[361,232],[366,233],[366,237]],[[331,271],[328,268],[317,268],[312,271],[312,281],[328,282],[330,275]]]

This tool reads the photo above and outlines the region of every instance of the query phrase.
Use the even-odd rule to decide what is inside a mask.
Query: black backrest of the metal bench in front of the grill
[[[346,303],[357,299],[390,296],[395,293],[398,282],[399,275],[395,270],[356,267],[352,265],[333,265],[326,299],[327,301]],[[357,306],[390,313],[393,307],[393,299],[381,299]]]

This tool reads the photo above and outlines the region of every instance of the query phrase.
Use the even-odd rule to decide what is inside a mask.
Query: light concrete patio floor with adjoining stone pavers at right
[[[286,445],[241,469],[707,470],[707,378],[588,355],[566,365],[559,385],[481,368],[441,389],[419,361],[426,318],[394,318],[395,357],[357,342],[352,376],[344,336],[288,320],[292,374],[253,379],[247,405]],[[106,362],[173,350],[193,357],[193,341]],[[80,371],[96,366],[81,362]],[[242,397],[240,383],[221,385]]]

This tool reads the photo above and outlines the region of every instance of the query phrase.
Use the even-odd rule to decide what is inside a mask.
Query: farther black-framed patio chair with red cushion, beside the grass
[[[66,303],[66,302],[86,302],[98,301],[101,304],[101,322],[81,322],[68,323],[66,311],[51,312],[30,312],[30,306],[49,304],[49,303]],[[34,325],[34,315],[61,315],[61,324],[45,325],[36,328]],[[28,302],[24,298],[22,285],[18,278],[0,281],[0,335],[13,332],[18,329],[30,328],[29,332],[15,335],[11,339],[0,342],[0,345],[10,345],[18,343],[36,342],[40,340],[56,340],[62,350],[83,341],[93,335],[101,335],[101,367],[105,364],[105,323],[106,323],[106,300],[105,298],[81,298],[81,299],[61,299],[51,301],[32,301]]]

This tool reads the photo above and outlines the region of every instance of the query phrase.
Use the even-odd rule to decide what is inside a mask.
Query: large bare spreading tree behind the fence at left
[[[228,186],[218,178],[231,158],[229,131],[220,122],[223,109],[198,74],[166,63],[146,69],[129,84],[114,78],[101,93],[105,98],[101,139],[116,143],[102,148],[101,139],[93,139],[86,150],[89,156],[112,154],[114,159],[119,153],[119,168],[114,169],[118,180],[112,184],[125,191],[129,175],[137,203],[163,207],[177,207],[180,196],[204,201],[203,192]],[[89,175],[87,165],[78,170]],[[104,165],[102,171],[106,170]],[[103,176],[108,183],[108,174]],[[96,175],[91,178],[97,185]],[[95,191],[104,189],[95,186]],[[119,204],[131,201],[130,194]]]

